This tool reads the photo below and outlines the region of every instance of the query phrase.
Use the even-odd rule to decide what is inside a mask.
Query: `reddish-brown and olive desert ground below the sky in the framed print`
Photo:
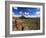
[[[13,31],[40,30],[40,17],[26,18],[24,16],[13,16],[12,28]]]

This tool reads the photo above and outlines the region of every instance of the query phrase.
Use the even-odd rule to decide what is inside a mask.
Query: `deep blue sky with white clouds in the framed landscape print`
[[[14,15],[37,16],[37,15],[40,15],[40,8],[33,8],[33,7],[12,7],[12,13]]]

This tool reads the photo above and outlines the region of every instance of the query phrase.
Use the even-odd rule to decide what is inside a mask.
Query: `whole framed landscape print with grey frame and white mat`
[[[45,7],[44,3],[5,1],[5,37],[44,35],[44,33],[45,33],[44,32],[44,28],[45,28],[45,24],[44,24],[44,22],[45,22],[44,21],[44,17],[45,17],[44,16],[45,15],[44,10],[45,10],[45,8],[44,7]],[[32,10],[34,10],[34,11],[32,11]],[[36,12],[36,11],[38,11],[38,12]],[[29,14],[30,14],[30,16],[29,16]],[[16,15],[18,15],[18,16],[16,16]],[[24,16],[24,17],[22,17],[21,20],[19,20],[19,24],[20,24],[20,21],[22,21],[22,20],[24,21],[24,25],[25,25],[25,23],[26,24],[28,23],[27,24],[28,30],[27,30],[26,26],[24,26],[24,30],[23,30],[23,28],[21,28],[21,30],[20,29],[14,30],[14,27],[16,25],[13,26],[13,23],[12,23],[13,18],[12,17],[16,16],[18,18],[19,15],[21,17]],[[26,21],[27,19],[28,19],[28,21]],[[30,22],[29,19],[32,19],[32,20],[38,19],[36,21],[37,25],[35,25],[36,24],[35,20],[33,22],[30,20],[31,21]],[[34,25],[31,25],[31,24],[34,24]],[[37,26],[37,27],[35,27],[35,26]],[[18,28],[19,28],[19,26],[18,26]]]

